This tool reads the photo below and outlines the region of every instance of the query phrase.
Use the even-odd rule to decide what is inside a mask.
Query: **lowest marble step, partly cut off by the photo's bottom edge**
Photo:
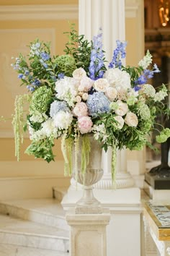
[[[1,244],[0,242],[0,256],[69,256],[69,253],[51,249],[34,249],[11,244]]]

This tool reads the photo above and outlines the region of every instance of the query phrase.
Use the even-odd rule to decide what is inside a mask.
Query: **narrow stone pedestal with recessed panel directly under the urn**
[[[70,256],[107,256],[106,226],[109,219],[109,213],[68,212],[66,221],[71,226]]]

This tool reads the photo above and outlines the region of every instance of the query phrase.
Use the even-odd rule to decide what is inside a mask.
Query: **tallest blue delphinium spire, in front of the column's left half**
[[[91,50],[90,65],[89,65],[89,77],[92,80],[102,78],[104,71],[104,52],[102,50],[102,29],[99,30],[99,34],[93,38],[93,49]]]

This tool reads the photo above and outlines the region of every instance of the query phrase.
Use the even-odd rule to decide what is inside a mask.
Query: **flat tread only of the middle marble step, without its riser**
[[[0,214],[0,232],[68,239],[68,231]]]

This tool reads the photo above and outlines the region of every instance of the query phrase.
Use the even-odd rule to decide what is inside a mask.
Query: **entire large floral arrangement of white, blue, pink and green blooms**
[[[112,61],[107,63],[102,50],[102,30],[91,40],[78,35],[74,28],[61,56],[51,56],[50,43],[35,40],[30,43],[27,57],[19,54],[12,66],[19,73],[28,93],[19,95],[13,119],[16,152],[24,130],[29,130],[31,144],[26,150],[35,158],[54,161],[55,139],[62,137],[61,148],[66,162],[65,172],[71,174],[73,145],[79,150],[79,138],[84,137],[84,158],[90,151],[89,133],[104,150],[115,148],[141,150],[150,145],[147,136],[154,129],[156,116],[166,114],[164,104],[168,95],[166,85],[153,88],[148,80],[159,72],[152,56],[139,61],[138,67],[125,67],[126,42],[117,40]],[[29,109],[24,116],[24,103]],[[158,142],[170,137],[170,129],[160,125]]]

